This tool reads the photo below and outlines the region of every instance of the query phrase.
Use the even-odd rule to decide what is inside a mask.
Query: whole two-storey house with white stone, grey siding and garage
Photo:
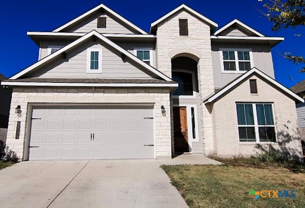
[[[301,158],[304,100],[274,80],[270,52],[284,38],[238,20],[217,27],[183,4],[147,34],[101,4],[28,32],[39,61],[2,82],[13,89],[7,145],[22,160],[252,155],[268,145]]]

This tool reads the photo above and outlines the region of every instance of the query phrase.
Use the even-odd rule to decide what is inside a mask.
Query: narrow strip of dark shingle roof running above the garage
[[[24,79],[6,79],[6,82],[51,82],[51,83],[176,83],[174,81],[165,81],[160,79],[75,79],[75,78],[24,78]]]

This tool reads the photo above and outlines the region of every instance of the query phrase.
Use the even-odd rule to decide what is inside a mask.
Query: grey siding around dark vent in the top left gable
[[[106,17],[106,28],[97,28],[98,17]],[[100,11],[89,15],[80,22],[68,27],[61,32],[67,33],[89,33],[96,30],[98,33],[110,33],[110,34],[139,34],[127,25],[120,23],[117,18],[109,13]]]

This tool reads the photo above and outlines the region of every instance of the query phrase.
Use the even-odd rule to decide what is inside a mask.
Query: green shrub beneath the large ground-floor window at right
[[[288,158],[278,149],[263,149],[257,153],[257,158],[264,163],[286,163]]]

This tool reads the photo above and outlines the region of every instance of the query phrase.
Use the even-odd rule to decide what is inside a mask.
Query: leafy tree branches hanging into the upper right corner
[[[259,0],[263,1],[263,0]],[[305,26],[305,0],[268,0],[264,4],[267,8],[265,15],[273,22],[272,31],[278,32],[282,28],[297,28],[297,26]],[[301,34],[297,36],[303,36]],[[294,56],[286,52],[284,57],[294,64],[305,64],[303,56]],[[305,66],[300,69],[305,72]]]

